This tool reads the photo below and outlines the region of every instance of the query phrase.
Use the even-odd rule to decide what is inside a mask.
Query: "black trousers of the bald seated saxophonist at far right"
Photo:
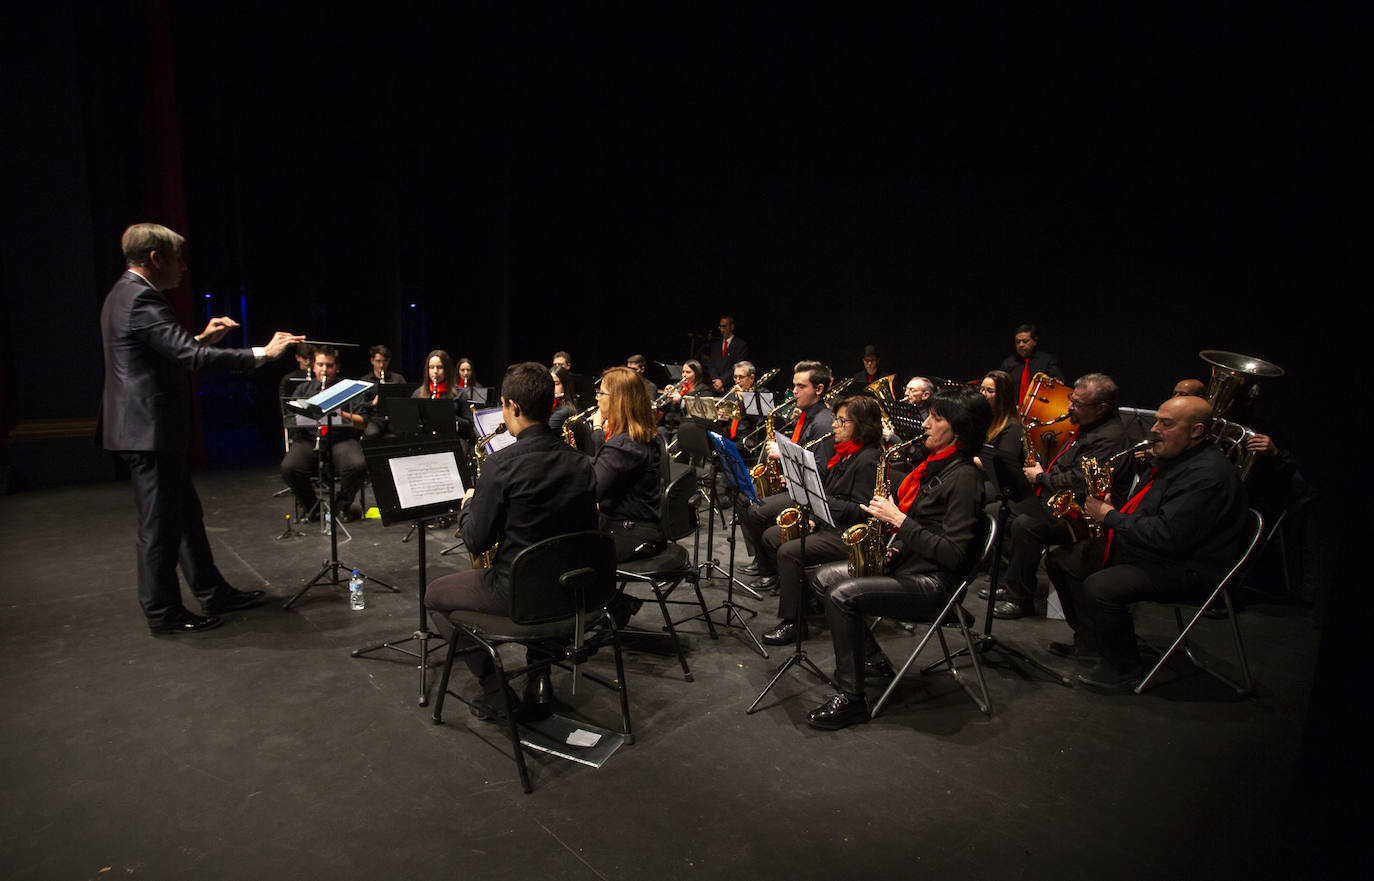
[[[1156,562],[1102,566],[1102,543],[1080,542],[1046,557],[1046,570],[1059,594],[1074,640],[1102,653],[1120,672],[1140,667],[1131,603],[1198,602],[1208,581],[1193,569]]]

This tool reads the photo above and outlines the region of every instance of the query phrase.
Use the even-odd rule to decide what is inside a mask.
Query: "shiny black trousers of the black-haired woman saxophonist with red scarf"
[[[835,682],[849,694],[863,694],[864,657],[879,651],[864,616],[919,621],[934,617],[948,599],[940,575],[866,576],[852,579],[838,564],[816,575],[826,596],[826,620],[835,646]]]

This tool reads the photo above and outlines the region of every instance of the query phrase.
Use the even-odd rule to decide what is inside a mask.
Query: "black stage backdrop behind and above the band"
[[[875,342],[973,379],[1030,320],[1127,404],[1221,348],[1289,370],[1279,408],[1340,348],[1352,117],[1340,23],[1297,7],[284,5],[29,14],[7,425],[93,411],[142,219],[188,234],[194,323],[386,342],[412,378],[433,348],[488,382],[555,349],[679,361],[731,311],[761,370]],[[206,382],[214,458],[272,455],[264,374]]]

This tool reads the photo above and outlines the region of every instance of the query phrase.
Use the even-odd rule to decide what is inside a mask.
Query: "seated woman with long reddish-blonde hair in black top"
[[[596,392],[592,426],[605,441],[596,449],[596,510],[600,531],[616,539],[616,561],[653,555],[662,548],[658,460],[654,418],[644,383],[629,367],[609,367]]]

